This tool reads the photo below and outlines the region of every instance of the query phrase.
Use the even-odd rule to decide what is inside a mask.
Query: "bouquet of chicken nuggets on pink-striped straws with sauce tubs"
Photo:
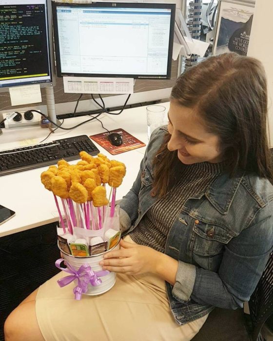
[[[79,155],[76,165],[60,160],[50,166],[41,173],[41,182],[53,193],[59,212],[59,247],[66,254],[88,257],[113,248],[120,239],[116,190],[126,167],[103,154]]]

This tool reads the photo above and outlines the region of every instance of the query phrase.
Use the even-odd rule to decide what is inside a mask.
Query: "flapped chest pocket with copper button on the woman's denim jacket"
[[[234,237],[229,230],[223,227],[206,224],[199,220],[195,220],[194,234],[193,252],[201,256],[213,256],[221,253],[224,245]]]

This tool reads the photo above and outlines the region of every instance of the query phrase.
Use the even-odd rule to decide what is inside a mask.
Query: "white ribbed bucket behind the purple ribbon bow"
[[[58,247],[59,247],[59,242],[58,242]],[[102,267],[98,264],[102,259],[103,255],[109,251],[115,250],[119,248],[119,242],[117,243],[116,246],[112,247],[112,249],[107,250],[106,252],[99,253],[98,255],[93,255],[93,256],[88,256],[88,257],[77,257],[77,256],[72,256],[69,255],[61,248],[59,247],[59,250],[63,254],[63,259],[68,262],[71,266],[73,266],[76,270],[80,268],[81,265],[83,264],[88,264],[91,266],[93,271],[101,271]],[[106,276],[99,277],[101,279],[101,284],[93,286],[91,284],[88,284],[87,287],[87,292],[83,293],[85,295],[100,295],[103,294],[104,292],[110,290],[114,284],[116,283],[116,272],[110,272]],[[78,285],[78,280],[75,280],[74,283]]]

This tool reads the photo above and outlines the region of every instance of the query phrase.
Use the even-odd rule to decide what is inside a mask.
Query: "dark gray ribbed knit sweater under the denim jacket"
[[[133,241],[164,252],[168,232],[185,201],[193,195],[204,193],[222,170],[223,163],[181,164],[179,179],[174,187],[146,212],[130,233]]]

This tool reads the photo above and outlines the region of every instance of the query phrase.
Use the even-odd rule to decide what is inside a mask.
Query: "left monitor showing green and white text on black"
[[[48,0],[0,1],[0,90],[52,82]]]

